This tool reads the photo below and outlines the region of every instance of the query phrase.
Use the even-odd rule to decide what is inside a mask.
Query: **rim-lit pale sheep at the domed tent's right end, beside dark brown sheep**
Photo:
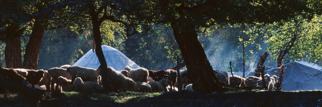
[[[124,69],[131,69],[131,68],[126,66]],[[149,72],[146,68],[139,67],[136,69],[131,69],[128,72],[129,72],[128,77],[133,79],[133,81],[147,82],[147,77],[149,76]]]

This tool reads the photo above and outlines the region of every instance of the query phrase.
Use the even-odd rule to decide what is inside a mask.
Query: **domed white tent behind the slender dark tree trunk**
[[[121,71],[124,67],[129,66],[131,68],[139,68],[131,59],[126,57],[118,49],[110,46],[102,45],[104,57],[107,62],[107,66],[113,67],[115,70]],[[95,51],[94,51],[95,52]],[[92,49],[90,49],[83,57],[81,57],[73,66],[90,67],[97,69],[100,65],[99,59]]]

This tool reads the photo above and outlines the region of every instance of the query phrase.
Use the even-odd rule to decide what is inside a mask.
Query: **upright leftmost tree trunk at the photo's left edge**
[[[19,26],[12,24],[5,29],[5,67],[21,68],[21,33]]]

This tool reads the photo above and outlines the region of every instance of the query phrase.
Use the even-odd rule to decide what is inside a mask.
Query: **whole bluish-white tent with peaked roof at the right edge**
[[[282,90],[322,90],[322,75],[309,76],[322,72],[321,66],[304,61],[290,62],[284,66]],[[277,68],[267,70],[267,74],[279,76]]]

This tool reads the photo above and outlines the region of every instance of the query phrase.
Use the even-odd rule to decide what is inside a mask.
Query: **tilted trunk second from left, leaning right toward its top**
[[[31,32],[30,39],[26,46],[23,68],[38,69],[38,56],[44,32],[45,29],[42,21],[36,20],[33,24],[33,31]]]

